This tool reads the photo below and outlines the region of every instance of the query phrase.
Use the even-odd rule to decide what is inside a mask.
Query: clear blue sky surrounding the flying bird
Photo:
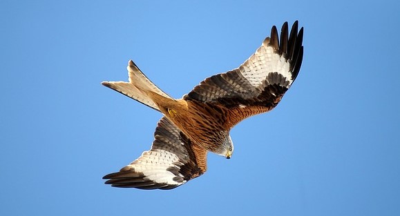
[[[400,215],[399,1],[1,1],[0,215]],[[161,115],[100,85],[129,59],[173,97],[305,28],[301,72],[174,190],[104,185]]]

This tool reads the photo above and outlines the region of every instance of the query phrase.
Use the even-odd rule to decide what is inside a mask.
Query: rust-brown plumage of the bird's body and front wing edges
[[[160,111],[180,128],[192,143],[200,168],[207,170],[207,151],[217,152],[229,130],[251,115],[267,112],[265,106],[226,108],[220,104],[195,100],[171,99],[147,92]]]

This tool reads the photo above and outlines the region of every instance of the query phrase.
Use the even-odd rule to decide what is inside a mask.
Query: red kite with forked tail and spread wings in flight
[[[303,60],[303,28],[276,26],[256,52],[238,68],[213,75],[182,99],[173,99],[128,62],[129,81],[102,84],[159,112],[151,149],[117,173],[103,177],[121,188],[171,189],[207,170],[207,153],[229,159],[229,131],[238,122],[272,110],[296,79]]]

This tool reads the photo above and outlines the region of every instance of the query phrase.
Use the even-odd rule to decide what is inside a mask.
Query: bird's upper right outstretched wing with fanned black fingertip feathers
[[[239,68],[202,81],[184,99],[218,104],[227,108],[227,128],[242,119],[272,110],[298,75],[303,60],[303,28],[294,22],[288,35],[287,22],[280,41],[276,26],[271,37]]]

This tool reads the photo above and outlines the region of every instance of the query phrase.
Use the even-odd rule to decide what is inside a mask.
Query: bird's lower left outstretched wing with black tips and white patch
[[[120,188],[172,189],[202,175],[207,150],[196,148],[166,117],[158,122],[151,150],[118,173],[103,177],[105,184]]]

